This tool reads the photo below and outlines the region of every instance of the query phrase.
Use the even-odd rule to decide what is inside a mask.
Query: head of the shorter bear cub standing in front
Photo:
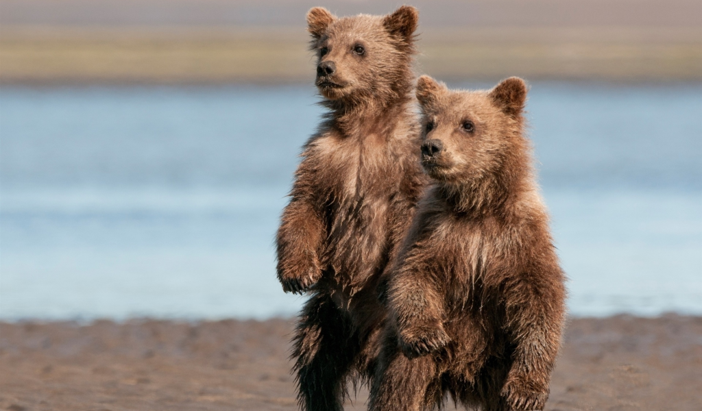
[[[421,161],[446,184],[471,184],[505,171],[527,149],[522,134],[527,84],[511,77],[492,90],[449,90],[429,76],[417,82],[423,114]]]

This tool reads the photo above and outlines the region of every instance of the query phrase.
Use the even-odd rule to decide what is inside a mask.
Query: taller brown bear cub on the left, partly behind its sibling
[[[428,180],[413,105],[416,9],[307,14],[326,119],[303,147],[277,234],[286,292],[309,292],[293,337],[304,410],[343,410],[347,382],[374,375],[385,309],[378,277]],[[362,379],[359,379],[362,378]]]

